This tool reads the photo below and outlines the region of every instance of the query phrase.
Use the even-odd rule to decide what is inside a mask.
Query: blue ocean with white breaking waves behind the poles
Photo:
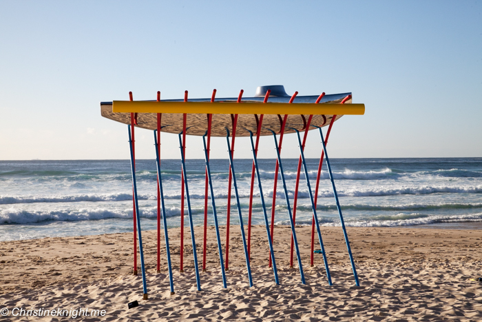
[[[284,159],[291,205],[297,159]],[[308,159],[315,186],[318,159]],[[264,198],[271,218],[275,160],[260,159]],[[251,159],[235,159],[240,203],[247,224]],[[226,224],[229,161],[211,160],[216,208]],[[331,159],[340,204],[348,226],[395,227],[482,221],[482,158]],[[180,226],[180,161],[162,160],[167,225]],[[303,172],[302,172],[303,173]],[[156,162],[137,160],[141,226],[156,229]],[[187,161],[194,225],[204,217],[205,162]],[[256,182],[256,181],[255,181]],[[275,224],[289,225],[281,178]],[[238,211],[232,190],[231,224]],[[253,225],[264,225],[255,184]],[[339,225],[326,164],[319,184],[317,214],[324,226]],[[213,225],[209,201],[208,223]],[[297,225],[311,225],[311,203],[302,174]],[[161,221],[162,223],[162,221]],[[187,209],[185,225],[189,225]],[[132,232],[132,177],[129,160],[0,161],[0,241]]]

